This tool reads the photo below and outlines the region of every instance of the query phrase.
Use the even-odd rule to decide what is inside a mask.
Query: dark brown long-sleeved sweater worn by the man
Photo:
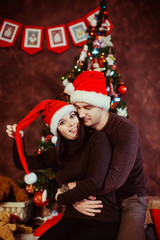
[[[109,138],[113,155],[105,180],[105,193],[116,191],[118,200],[134,194],[146,195],[142,150],[135,125],[125,117],[109,113],[102,131]]]

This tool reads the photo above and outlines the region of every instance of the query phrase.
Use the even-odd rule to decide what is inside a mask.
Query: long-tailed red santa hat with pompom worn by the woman
[[[33,184],[37,181],[35,173],[29,173],[27,162],[23,153],[23,144],[20,131],[29,126],[39,115],[42,114],[43,121],[50,127],[53,133],[52,142],[56,143],[57,140],[57,126],[59,120],[69,112],[76,111],[76,108],[64,101],[59,100],[44,100],[40,102],[25,118],[17,125],[15,132],[15,140],[20,157],[21,164],[26,172],[24,180],[27,184]]]

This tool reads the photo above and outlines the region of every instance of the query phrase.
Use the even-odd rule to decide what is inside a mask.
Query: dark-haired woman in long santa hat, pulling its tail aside
[[[115,194],[98,195],[100,192],[111,159],[109,140],[102,132],[84,127],[75,113],[73,105],[58,100],[46,100],[37,105],[16,127],[7,126],[10,137],[15,136],[17,149],[14,145],[14,161],[18,168],[25,167],[27,176],[30,170],[52,168],[60,189],[56,194],[57,201],[66,206],[62,219],[39,240],[43,239],[108,239],[116,238],[119,226],[119,211]],[[39,155],[23,155],[20,130],[23,130],[40,114],[50,126],[51,132],[57,137],[57,146]],[[18,135],[18,137],[17,137]],[[108,142],[108,145],[106,144]],[[19,159],[19,156],[20,159]],[[26,167],[27,159],[27,167]],[[21,163],[22,165],[21,165]],[[30,183],[35,180],[25,178]],[[29,179],[29,180],[28,180]],[[67,184],[76,182],[73,189]],[[103,202],[101,212],[90,217],[73,207],[74,203],[89,196],[97,195]]]

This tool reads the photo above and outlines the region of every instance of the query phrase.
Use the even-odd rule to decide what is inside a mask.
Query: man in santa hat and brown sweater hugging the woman
[[[135,125],[124,117],[108,112],[110,97],[101,72],[81,73],[73,84],[67,84],[65,92],[70,95],[70,101],[75,104],[84,124],[105,132],[111,141],[113,155],[103,193],[116,191],[121,210],[117,240],[144,240],[146,178]],[[97,208],[102,207],[103,203],[96,201],[93,196],[90,199],[75,203],[74,207],[89,216],[98,214]]]

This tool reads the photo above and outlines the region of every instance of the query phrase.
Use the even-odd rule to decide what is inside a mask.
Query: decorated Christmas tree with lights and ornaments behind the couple
[[[108,95],[111,97],[109,111],[118,115],[128,117],[127,106],[121,100],[123,94],[127,91],[122,82],[122,76],[117,70],[116,58],[114,56],[113,42],[111,39],[112,23],[109,20],[108,2],[101,1],[98,12],[90,20],[87,28],[87,40],[83,45],[79,57],[75,57],[74,67],[66,72],[62,77],[62,83],[73,82],[74,79],[83,71],[101,71],[106,78]],[[59,100],[69,102],[69,96],[62,93]],[[37,154],[52,147],[52,134],[49,128],[42,130],[41,140],[39,142]],[[38,206],[48,204],[52,206],[57,185],[52,170],[43,170],[38,172],[39,177],[35,186],[27,186],[28,192],[34,195],[34,202]],[[46,192],[48,192],[43,196]],[[44,197],[45,201],[42,202]]]

